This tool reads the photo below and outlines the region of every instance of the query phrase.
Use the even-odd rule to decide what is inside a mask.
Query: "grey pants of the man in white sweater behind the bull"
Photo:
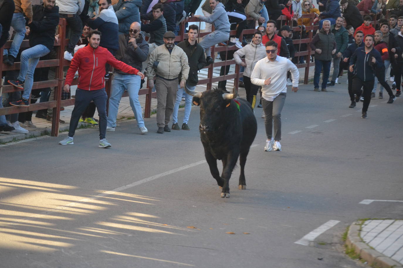
[[[266,128],[267,139],[272,138],[272,129],[274,121],[274,140],[281,140],[281,110],[283,110],[286,93],[280,93],[273,101],[262,98],[262,106],[264,111],[264,126]]]

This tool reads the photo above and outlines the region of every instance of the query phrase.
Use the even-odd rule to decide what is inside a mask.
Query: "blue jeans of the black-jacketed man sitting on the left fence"
[[[50,50],[44,45],[35,45],[34,47],[25,49],[21,53],[21,68],[17,79],[19,81],[25,80],[23,99],[28,100],[29,96],[31,96],[33,73],[35,72],[39,58],[48,54],[49,52]]]

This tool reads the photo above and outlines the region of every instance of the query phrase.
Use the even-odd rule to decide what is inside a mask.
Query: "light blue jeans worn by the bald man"
[[[125,90],[129,92],[130,106],[136,117],[137,127],[144,127],[141,104],[139,102],[140,83],[140,76],[115,72],[112,80],[112,93],[109,98],[108,127],[116,127],[119,102]]]

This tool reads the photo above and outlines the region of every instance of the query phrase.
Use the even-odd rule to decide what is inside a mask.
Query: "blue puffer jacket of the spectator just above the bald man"
[[[113,5],[116,18],[118,19],[119,34],[129,33],[130,25],[137,21],[141,23],[139,8],[141,7],[141,0],[119,0],[117,4]]]

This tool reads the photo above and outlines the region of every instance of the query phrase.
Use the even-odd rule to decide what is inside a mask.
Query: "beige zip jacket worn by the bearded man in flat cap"
[[[186,82],[189,76],[189,63],[183,49],[175,45],[172,52],[169,53],[164,44],[152,51],[150,61],[147,64],[147,79],[153,79],[154,75],[174,79],[181,73],[181,80]]]

